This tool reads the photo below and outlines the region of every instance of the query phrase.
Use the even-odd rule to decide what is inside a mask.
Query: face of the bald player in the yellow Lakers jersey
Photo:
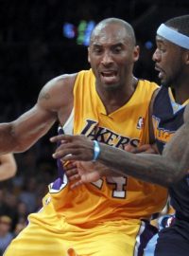
[[[138,57],[139,48],[133,46],[125,27],[118,24],[100,27],[93,36],[88,55],[98,88],[114,90],[125,86]]]

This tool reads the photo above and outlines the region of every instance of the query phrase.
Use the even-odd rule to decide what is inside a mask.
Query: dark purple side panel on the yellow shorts
[[[158,229],[156,229],[154,226],[151,226],[146,221],[143,221],[143,225],[145,225],[145,229],[140,235],[140,246],[138,247],[138,256],[144,255],[144,249],[148,241],[158,232]]]

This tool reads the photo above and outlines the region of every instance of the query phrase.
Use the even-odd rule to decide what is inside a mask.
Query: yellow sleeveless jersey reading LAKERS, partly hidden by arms
[[[107,115],[95,90],[92,70],[79,72],[74,86],[74,134],[121,149],[127,144],[148,143],[148,106],[156,88],[156,83],[140,80],[129,101]],[[49,188],[51,196],[45,197],[46,204],[51,200],[53,210],[64,221],[80,227],[112,220],[149,219],[163,209],[166,201],[165,189],[129,176],[103,177],[75,190],[70,189],[65,177],[59,189],[53,185]]]

